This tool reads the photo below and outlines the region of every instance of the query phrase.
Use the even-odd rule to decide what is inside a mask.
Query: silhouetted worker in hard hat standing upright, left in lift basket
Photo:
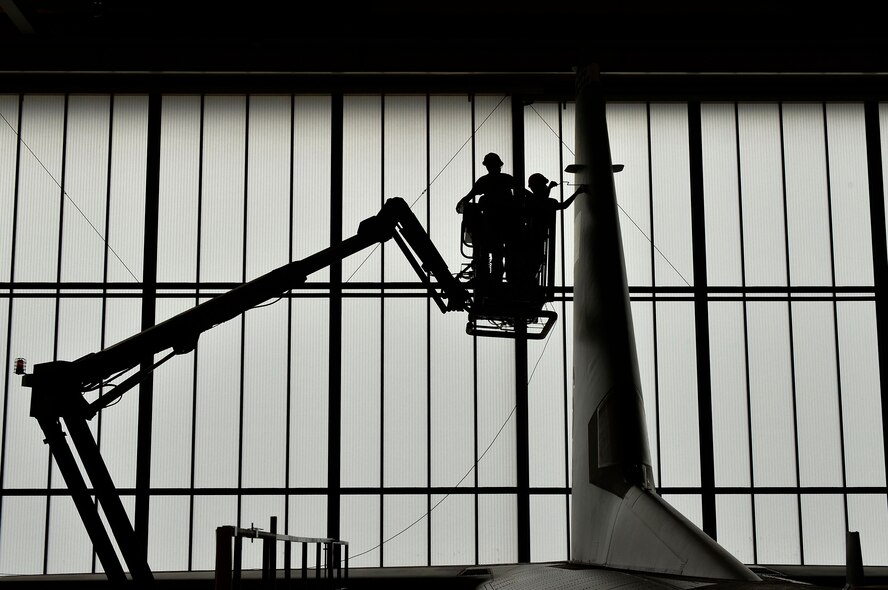
[[[513,208],[516,202],[512,191],[520,187],[511,174],[502,171],[503,161],[497,154],[492,152],[487,154],[481,163],[487,168],[487,174],[476,180],[472,189],[459,200],[456,211],[463,213],[466,203],[480,196],[478,199],[480,218],[467,220],[472,226],[475,277],[481,281],[488,277],[501,281],[506,240],[512,233],[510,226],[515,223]]]

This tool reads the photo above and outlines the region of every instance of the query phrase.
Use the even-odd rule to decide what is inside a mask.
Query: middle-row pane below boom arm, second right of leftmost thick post
[[[241,446],[242,317],[206,332],[197,345],[194,485],[238,485]],[[156,402],[155,402],[156,403]]]

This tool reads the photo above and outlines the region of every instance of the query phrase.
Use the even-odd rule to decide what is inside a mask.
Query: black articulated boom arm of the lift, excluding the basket
[[[277,268],[101,352],[75,361],[38,364],[32,374],[24,376],[23,385],[32,388],[31,415],[46,434],[45,442],[65,478],[109,580],[124,582],[127,576],[92,501],[93,493],[102,505],[132,580],[148,584],[153,576],[147,563],[146,548],[134,534],[86,421],[160,364],[154,363],[154,355],[166,350],[171,350],[169,356],[190,352],[203,332],[282,296],[305,282],[313,272],[389,239],[394,239],[407,256],[442,312],[466,311],[471,307],[469,293],[450,273],[410,207],[403,199],[393,198],[386,201],[377,215],[361,222],[355,236],[339,244]],[[427,272],[437,280],[437,286],[432,284]],[[139,365],[142,369],[138,373],[92,403],[83,397],[87,391],[98,389],[114,376]],[[62,431],[60,419],[65,421],[83,470],[92,483],[92,492]]]

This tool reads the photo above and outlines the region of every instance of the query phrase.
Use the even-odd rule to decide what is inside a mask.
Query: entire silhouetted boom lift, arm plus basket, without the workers
[[[469,246],[473,229],[477,228],[472,228],[471,223],[464,224],[463,241]],[[545,318],[548,331],[555,320],[554,313],[540,310],[551,297],[551,232],[545,246],[546,261],[533,271],[532,284],[476,284],[472,294],[460,281],[460,275],[451,274],[410,206],[401,198],[392,198],[377,215],[361,222],[356,235],[339,244],[272,270],[102,351],[74,361],[40,363],[30,374],[26,373],[24,359],[16,361],[15,372],[23,376],[22,384],[31,388],[31,416],[45,434],[45,442],[109,581],[115,585],[131,581],[137,586],[148,586],[154,577],[147,552],[135,536],[87,421],[118,401],[166,360],[194,350],[203,332],[281,297],[313,272],[390,239],[398,244],[442,312],[469,312],[470,333],[510,335],[514,333],[510,326],[540,317]],[[489,322],[491,327],[477,327],[482,321]],[[169,352],[155,362],[155,355],[164,351]],[[112,383],[134,369],[137,370],[120,384]],[[98,397],[87,401],[84,395],[96,391],[100,392]],[[115,543],[129,575],[118,558]]]

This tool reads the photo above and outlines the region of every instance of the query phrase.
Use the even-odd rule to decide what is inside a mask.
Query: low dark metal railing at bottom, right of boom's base
[[[244,539],[262,540],[262,588],[274,588],[277,582],[276,543],[278,542],[284,543],[283,580],[285,583],[293,579],[291,564],[294,543],[299,543],[301,546],[302,580],[309,579],[309,545],[315,546],[315,579],[319,582],[326,581],[328,588],[334,588],[337,580],[348,580],[347,541],[280,535],[277,533],[277,517],[272,516],[268,531],[256,527],[242,529],[231,525],[216,528],[216,590],[238,590],[241,587]]]

